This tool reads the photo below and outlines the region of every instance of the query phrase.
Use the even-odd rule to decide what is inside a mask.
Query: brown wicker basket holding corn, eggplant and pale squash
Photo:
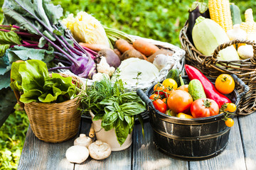
[[[248,115],[256,110],[256,44],[249,40],[233,40],[219,45],[213,52],[213,56],[202,55],[201,52],[196,50],[196,47],[188,40],[186,35],[188,30],[188,23],[181,29],[180,41],[183,50],[186,51],[186,64],[191,64],[193,67],[199,69],[203,74],[209,77],[216,78],[218,75],[236,74],[242,81],[250,87],[250,90],[241,98],[237,114]],[[217,60],[218,52],[230,45],[245,43],[252,45],[254,56],[247,60],[233,60],[222,61]],[[236,85],[237,86],[237,85]],[[238,89],[241,93],[244,89]]]

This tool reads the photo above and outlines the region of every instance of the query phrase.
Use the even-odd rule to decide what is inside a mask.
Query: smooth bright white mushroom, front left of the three
[[[69,162],[80,164],[85,162],[87,157],[89,157],[89,150],[87,147],[82,147],[79,145],[68,148],[65,154]]]

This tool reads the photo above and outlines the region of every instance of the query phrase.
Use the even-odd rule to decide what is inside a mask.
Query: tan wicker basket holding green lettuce
[[[72,77],[60,74],[62,77]],[[82,81],[72,77],[78,86]],[[74,137],[78,133],[81,113],[78,110],[80,100],[73,98],[62,103],[21,103],[20,94],[14,91],[18,103],[24,107],[33,133],[44,142],[63,142]]]

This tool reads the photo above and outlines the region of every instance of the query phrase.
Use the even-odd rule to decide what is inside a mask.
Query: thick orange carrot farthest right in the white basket
[[[157,50],[159,50],[159,47],[156,47],[156,45],[142,39],[135,40],[133,42],[133,47],[146,56],[153,55]]]

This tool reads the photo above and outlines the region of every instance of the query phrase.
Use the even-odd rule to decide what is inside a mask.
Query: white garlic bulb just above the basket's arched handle
[[[227,31],[228,38],[230,40],[246,40],[247,39],[247,33],[245,30],[240,29],[240,24],[235,24],[233,26],[232,30]]]

